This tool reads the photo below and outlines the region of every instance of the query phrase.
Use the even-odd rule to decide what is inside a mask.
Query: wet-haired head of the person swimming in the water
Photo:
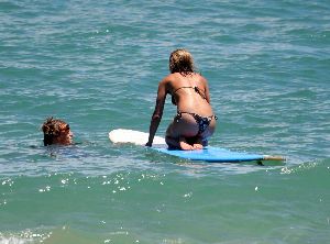
[[[73,143],[73,132],[70,126],[63,120],[47,118],[42,125],[44,133],[44,145],[70,145]]]

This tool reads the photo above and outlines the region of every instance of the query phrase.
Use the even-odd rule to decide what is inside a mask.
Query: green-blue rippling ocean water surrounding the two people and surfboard
[[[110,143],[148,130],[179,47],[209,81],[210,144],[286,162]],[[329,243],[329,77],[328,0],[0,1],[0,243]],[[43,146],[50,115],[75,145]]]

